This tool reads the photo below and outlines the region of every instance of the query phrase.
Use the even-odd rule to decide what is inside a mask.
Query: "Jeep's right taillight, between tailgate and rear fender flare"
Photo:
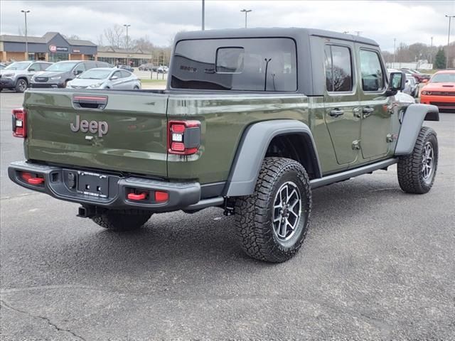
[[[200,121],[169,121],[168,153],[191,155],[200,146]]]

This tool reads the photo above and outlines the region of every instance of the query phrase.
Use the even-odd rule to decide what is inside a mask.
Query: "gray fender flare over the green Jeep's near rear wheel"
[[[224,190],[225,196],[250,195],[254,192],[270,142],[274,137],[285,134],[301,134],[305,138],[306,146],[302,148],[311,147],[309,153],[312,156],[311,161],[316,170],[316,177],[321,177],[321,165],[309,126],[294,119],[262,121],[248,126],[242,136]]]

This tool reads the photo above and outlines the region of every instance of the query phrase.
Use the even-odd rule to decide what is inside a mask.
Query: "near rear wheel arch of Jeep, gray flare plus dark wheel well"
[[[223,194],[228,197],[252,194],[262,161],[267,156],[292,158],[302,163],[309,174],[311,172],[311,178],[321,178],[316,144],[309,126],[293,119],[262,121],[245,129]]]

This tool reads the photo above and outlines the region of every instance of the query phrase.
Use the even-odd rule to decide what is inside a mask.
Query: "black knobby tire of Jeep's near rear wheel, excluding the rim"
[[[291,181],[301,196],[298,227],[287,242],[274,232],[274,200],[279,188]],[[299,251],[309,227],[311,187],[305,168],[289,158],[265,158],[252,195],[235,200],[237,237],[243,251],[252,258],[280,263]]]

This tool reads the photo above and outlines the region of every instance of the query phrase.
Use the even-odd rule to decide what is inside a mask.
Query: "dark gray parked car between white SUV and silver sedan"
[[[94,60],[64,60],[50,65],[44,72],[35,75],[31,79],[31,87],[66,87],[70,80],[85,70],[95,67],[108,67],[105,62]]]

